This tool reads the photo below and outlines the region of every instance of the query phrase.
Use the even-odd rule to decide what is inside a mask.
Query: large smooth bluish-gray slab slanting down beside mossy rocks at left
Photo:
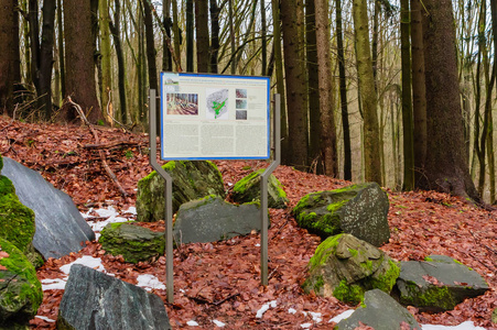
[[[3,157],[2,175],[12,180],[19,200],[35,213],[34,248],[44,258],[67,255],[95,240],[73,199],[54,188],[37,172]]]

